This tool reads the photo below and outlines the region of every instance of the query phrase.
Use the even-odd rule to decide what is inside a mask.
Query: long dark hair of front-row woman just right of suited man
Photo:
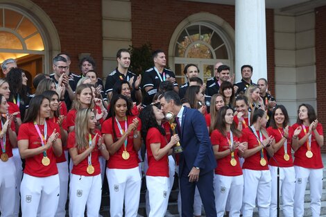
[[[217,112],[217,120],[218,121],[216,121],[215,125],[214,125],[214,130],[216,129],[219,132],[221,132],[221,134],[223,134],[224,137],[227,136],[225,114],[228,110],[232,110],[232,108],[229,106],[223,106],[223,107],[221,107],[220,110],[218,110],[218,112]],[[232,112],[233,112],[233,110],[232,110]],[[237,129],[234,121],[230,125],[230,130],[234,133],[234,135],[236,137],[241,137],[241,131]]]

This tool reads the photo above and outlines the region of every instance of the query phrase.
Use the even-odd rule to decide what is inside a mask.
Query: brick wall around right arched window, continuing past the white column
[[[210,12],[221,17],[234,28],[234,6],[191,1],[138,1],[131,0],[132,45],[141,46],[146,42],[153,49],[168,53],[171,35],[180,21],[198,12]],[[273,10],[266,10],[267,64],[270,89],[275,94],[274,23]],[[237,61],[237,60],[236,60]]]

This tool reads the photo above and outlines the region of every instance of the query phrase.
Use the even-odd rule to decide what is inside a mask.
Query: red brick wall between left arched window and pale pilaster
[[[60,37],[61,52],[71,55],[71,71],[78,69],[78,54],[91,53],[102,75],[101,1],[32,0],[50,17]],[[102,77],[102,76],[101,76]]]

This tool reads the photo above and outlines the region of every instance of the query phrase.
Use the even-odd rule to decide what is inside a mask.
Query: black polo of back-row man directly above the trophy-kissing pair
[[[143,77],[141,78],[141,89],[144,89],[143,103],[144,105],[149,105],[153,101],[153,96],[157,93],[160,83],[166,80],[166,76],[175,78],[173,71],[169,69],[163,69],[162,73],[159,73],[155,70],[155,67],[148,69],[144,72]],[[178,87],[178,83],[173,84],[174,87]],[[153,87],[147,93],[145,87]]]

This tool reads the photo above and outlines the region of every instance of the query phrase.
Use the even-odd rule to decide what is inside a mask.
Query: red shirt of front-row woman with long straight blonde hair
[[[95,137],[95,134],[98,133],[101,135],[101,132],[99,130],[94,130],[94,134],[92,135],[92,139]],[[87,139],[87,143],[88,143],[88,134],[85,135],[85,139]],[[85,175],[85,176],[95,176],[98,174],[101,174],[101,168],[100,168],[100,162],[98,161],[98,146],[97,146],[97,142],[98,142],[98,137],[96,138],[96,145],[95,148],[92,150],[92,157],[91,157],[91,162],[92,162],[92,166],[94,166],[94,173],[93,174],[88,174],[87,173],[87,166],[88,166],[88,156],[85,157],[85,159],[83,159],[83,161],[81,161],[78,165],[74,165],[71,173],[75,174],[75,175]],[[68,136],[68,142],[67,142],[67,148],[76,148],[77,144],[76,144],[76,134],[75,131],[71,131],[69,132],[69,136]],[[83,153],[85,150],[78,150],[78,155],[80,153]]]

